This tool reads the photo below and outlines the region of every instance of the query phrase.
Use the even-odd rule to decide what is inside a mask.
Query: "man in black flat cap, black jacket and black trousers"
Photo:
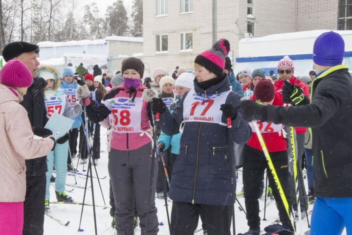
[[[39,61],[37,59],[39,47],[26,42],[13,42],[7,44],[2,50],[2,56],[7,62],[12,59],[21,60],[30,70],[33,83],[23,96],[22,106],[28,113],[29,121],[34,129],[34,134],[42,136],[37,131],[50,131],[44,129],[48,118],[44,103],[43,89],[46,82],[37,77]],[[47,171],[46,156],[26,160],[26,195],[24,199],[23,235],[43,235],[44,233],[44,201]]]

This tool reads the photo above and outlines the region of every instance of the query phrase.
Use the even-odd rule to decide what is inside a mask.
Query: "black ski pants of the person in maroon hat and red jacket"
[[[275,167],[276,173],[281,183],[281,187],[284,193],[288,195],[288,158],[287,151],[282,152],[270,152],[270,158]],[[260,186],[262,184],[262,179],[264,175],[264,170],[268,175],[268,180],[272,186],[274,198],[276,201],[277,209],[279,210],[280,221],[291,228],[292,225],[288,218],[285,210],[285,206],[281,200],[279,191],[276,187],[274,177],[266,162],[264,152],[251,148],[248,145],[244,146],[243,149],[243,189],[244,189],[244,203],[247,211],[247,224],[250,229],[260,230],[260,220],[259,217],[259,202],[258,198],[260,196]],[[292,230],[293,231],[293,230]]]

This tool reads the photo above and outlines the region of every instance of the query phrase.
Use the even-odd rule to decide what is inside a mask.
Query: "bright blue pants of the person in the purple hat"
[[[310,235],[352,235],[352,197],[317,197],[311,216]]]

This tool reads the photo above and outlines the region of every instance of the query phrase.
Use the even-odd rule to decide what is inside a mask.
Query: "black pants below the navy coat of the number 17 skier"
[[[199,215],[208,235],[231,235],[232,212],[230,206],[213,206],[173,202],[171,211],[171,235],[194,235]]]

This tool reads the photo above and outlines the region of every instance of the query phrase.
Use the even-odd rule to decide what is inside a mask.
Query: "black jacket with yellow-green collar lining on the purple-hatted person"
[[[314,194],[352,197],[352,78],[339,65],[313,80],[311,104],[267,106],[267,121],[311,127]]]

